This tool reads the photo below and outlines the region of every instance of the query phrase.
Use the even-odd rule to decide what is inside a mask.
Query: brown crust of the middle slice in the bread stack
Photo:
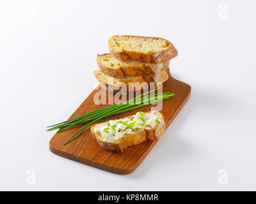
[[[108,54],[102,54],[108,55]],[[118,68],[111,68],[108,66],[104,66],[99,61],[98,55],[96,61],[99,66],[99,68],[106,73],[107,75],[113,76],[113,77],[125,77],[125,76],[146,76],[146,75],[156,75],[163,71],[164,69],[167,69],[169,67],[170,61],[164,61],[161,63],[153,64],[153,63],[143,63],[139,64],[137,66],[125,66],[124,64],[120,64]]]

